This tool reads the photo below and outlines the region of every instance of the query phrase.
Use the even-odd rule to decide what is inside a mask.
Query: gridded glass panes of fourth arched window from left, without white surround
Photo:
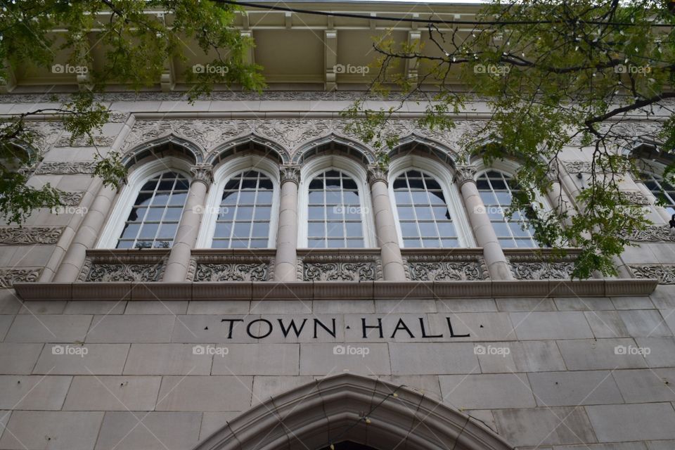
[[[394,200],[406,248],[457,247],[459,240],[441,186],[409,170],[394,180]]]

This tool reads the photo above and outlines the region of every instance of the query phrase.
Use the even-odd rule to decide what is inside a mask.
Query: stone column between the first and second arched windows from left
[[[211,169],[210,164],[195,165],[191,168],[192,183],[162,281],[167,283],[186,281],[191,251],[197,243],[197,235],[202,223],[206,193],[212,182]]]

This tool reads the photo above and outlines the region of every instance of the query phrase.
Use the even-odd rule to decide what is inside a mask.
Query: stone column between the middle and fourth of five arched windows
[[[389,198],[387,171],[378,166],[368,167],[368,182],[371,185],[375,235],[380,246],[382,271],[385,281],[406,281],[406,271],[401,257],[396,221]]]

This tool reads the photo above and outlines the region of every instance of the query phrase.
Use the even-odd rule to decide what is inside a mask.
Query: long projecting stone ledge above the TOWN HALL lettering
[[[515,281],[330,281],[200,283],[15,283],[22,300],[391,300],[650,295],[655,279]]]

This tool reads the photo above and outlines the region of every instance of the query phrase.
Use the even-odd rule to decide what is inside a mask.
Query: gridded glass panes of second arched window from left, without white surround
[[[212,248],[266,248],[274,186],[265,174],[248,170],[225,184]]]

